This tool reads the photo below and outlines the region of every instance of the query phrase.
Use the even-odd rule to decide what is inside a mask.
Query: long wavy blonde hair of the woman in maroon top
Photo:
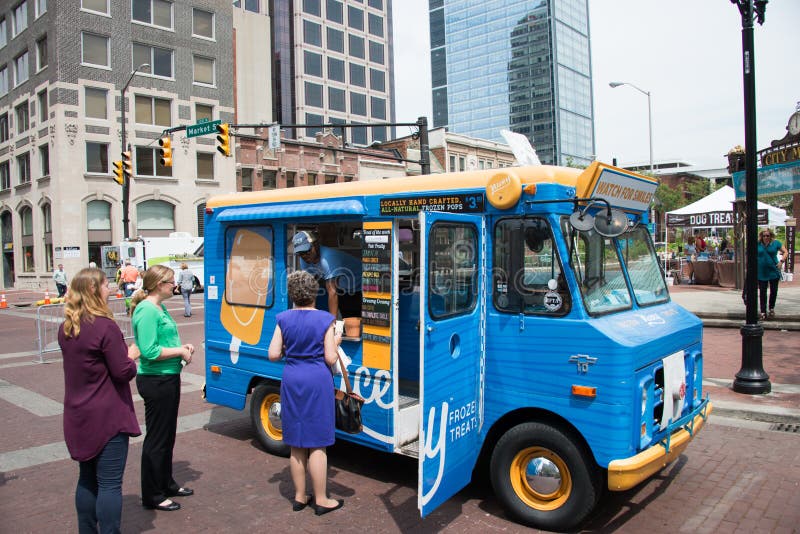
[[[94,322],[95,317],[114,320],[100,287],[107,283],[106,274],[100,269],[87,267],[72,278],[64,304],[64,335],[78,337],[81,333],[81,320]]]

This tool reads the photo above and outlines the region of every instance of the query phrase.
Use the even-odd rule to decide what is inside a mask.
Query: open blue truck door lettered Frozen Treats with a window
[[[422,211],[419,218],[424,517],[470,482],[481,448],[486,251],[480,216]]]

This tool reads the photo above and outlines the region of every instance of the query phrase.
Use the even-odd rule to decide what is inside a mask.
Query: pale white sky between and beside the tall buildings
[[[432,123],[428,0],[394,0],[397,122]],[[744,146],[742,19],[730,0],[589,0],[597,159],[727,165]],[[800,105],[800,0],[771,0],[755,30],[757,149],[786,135]],[[406,135],[399,128],[397,135]]]

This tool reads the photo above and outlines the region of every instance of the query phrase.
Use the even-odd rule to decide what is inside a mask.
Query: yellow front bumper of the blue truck
[[[692,413],[672,423],[666,438],[636,456],[612,460],[608,464],[608,489],[624,491],[650,478],[680,456],[703,428],[713,406],[705,399]]]

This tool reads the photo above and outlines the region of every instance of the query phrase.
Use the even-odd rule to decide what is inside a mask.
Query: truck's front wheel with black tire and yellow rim
[[[532,470],[538,470],[535,479]],[[543,530],[575,527],[602,492],[599,468],[588,452],[542,423],[523,423],[506,432],[492,452],[489,473],[509,515]]]

